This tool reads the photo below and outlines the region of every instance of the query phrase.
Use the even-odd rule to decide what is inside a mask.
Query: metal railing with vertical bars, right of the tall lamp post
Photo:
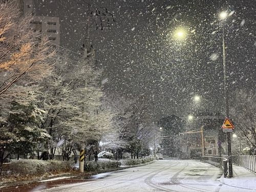
[[[224,158],[227,156],[223,156]],[[232,156],[232,164],[244,167],[256,173],[256,156],[254,155],[235,155]]]

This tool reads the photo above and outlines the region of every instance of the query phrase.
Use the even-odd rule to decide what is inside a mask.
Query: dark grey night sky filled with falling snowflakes
[[[36,1],[36,14],[60,18],[61,47],[81,53],[89,0]],[[255,91],[255,1],[90,1],[89,12],[113,14],[110,29],[90,30],[96,59],[104,70],[106,92],[140,98],[151,119],[186,117],[199,95],[204,109],[224,114],[222,22],[227,82],[235,90]],[[104,21],[103,21],[104,22]],[[102,23],[103,23],[102,22]],[[97,23],[97,21],[96,21]],[[99,23],[98,23],[99,24]],[[174,37],[177,29],[185,39]],[[70,52],[71,57],[79,57]]]

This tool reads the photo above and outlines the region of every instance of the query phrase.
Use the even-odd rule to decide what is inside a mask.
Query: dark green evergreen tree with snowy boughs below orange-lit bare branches
[[[11,112],[7,125],[1,129],[2,137],[6,137],[2,143],[8,153],[18,155],[30,155],[35,151],[36,145],[45,142],[50,136],[46,130],[40,129],[43,111],[36,105],[22,105],[11,103]]]

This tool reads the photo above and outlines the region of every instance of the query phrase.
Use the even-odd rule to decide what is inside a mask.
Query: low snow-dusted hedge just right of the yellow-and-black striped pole
[[[96,161],[88,161],[84,163],[84,170],[93,172],[95,170],[117,168],[121,165],[120,161],[113,161],[109,159],[99,159]]]

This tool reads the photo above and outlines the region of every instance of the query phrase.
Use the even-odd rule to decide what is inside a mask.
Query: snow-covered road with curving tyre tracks
[[[42,191],[251,191],[224,185],[220,182],[221,176],[221,168],[200,161],[159,160]]]

